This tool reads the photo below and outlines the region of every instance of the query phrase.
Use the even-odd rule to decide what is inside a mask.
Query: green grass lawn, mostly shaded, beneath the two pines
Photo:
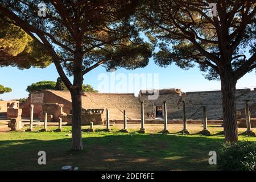
[[[70,150],[71,136],[67,134],[71,127],[63,128],[59,133],[0,133],[0,169],[59,170],[71,165],[80,170],[214,170],[216,166],[208,164],[208,152],[217,151],[224,142],[221,129],[214,127],[209,127],[214,130],[210,137],[176,131],[138,134],[135,129],[131,130],[134,133],[118,133],[114,127],[112,133],[82,133],[84,150],[77,152]],[[240,136],[240,140],[256,141],[256,137]],[[41,150],[46,151],[46,165],[38,164]]]

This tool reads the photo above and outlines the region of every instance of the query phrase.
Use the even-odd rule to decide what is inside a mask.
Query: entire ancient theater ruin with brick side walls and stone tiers
[[[186,107],[188,123],[201,122],[202,108],[206,108],[209,123],[222,123],[221,91],[181,92],[180,89],[157,90],[156,98],[152,99],[152,90],[141,90],[138,97],[132,93],[83,93],[82,94],[82,125],[105,124],[106,109],[109,119],[115,123],[123,122],[123,111],[129,122],[140,122],[141,102],[144,105],[146,123],[162,123],[163,102],[166,101],[168,123],[182,123],[183,103]],[[245,101],[250,110],[251,126],[256,126],[256,88],[237,89],[236,107],[240,125],[245,123]],[[43,90],[31,93],[26,102],[19,105],[22,117],[30,117],[30,106],[34,106],[34,118],[44,121],[45,113],[49,122],[72,122],[71,94],[65,91]],[[243,119],[240,119],[243,118]],[[240,120],[239,120],[240,119]]]

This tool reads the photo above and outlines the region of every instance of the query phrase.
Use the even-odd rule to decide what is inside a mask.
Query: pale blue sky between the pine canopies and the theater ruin
[[[98,89],[98,85],[102,82],[101,80],[98,80],[98,76],[102,73],[105,73],[110,77],[110,73],[106,72],[104,68],[98,67],[84,76],[84,84],[90,84],[95,89]],[[202,72],[200,72],[199,68],[197,67],[187,71],[176,67],[174,64],[167,68],[161,68],[155,65],[152,59],[145,68],[138,68],[133,71],[118,69],[115,72],[115,75],[118,75],[119,73],[124,73],[127,77],[129,73],[152,73],[153,78],[154,73],[158,73],[159,88],[179,88],[183,92],[220,90],[221,88],[219,81],[206,80],[202,75]],[[57,77],[59,77],[59,75],[53,64],[45,69],[30,68],[19,70],[13,67],[0,68],[0,84],[13,89],[13,92],[11,93],[1,94],[0,98],[3,100],[12,100],[16,98],[27,97],[28,92],[26,92],[26,88],[28,85],[42,80],[56,81]],[[118,82],[115,81],[115,83],[117,84]],[[154,87],[154,85],[155,83],[153,82],[152,86]],[[142,86],[142,84],[139,86]],[[253,72],[247,73],[237,82],[237,88],[252,89],[254,87],[256,88],[255,70]],[[102,92],[102,90],[99,91]],[[127,89],[123,90],[123,92],[126,93],[128,91],[129,90]],[[113,92],[113,90],[109,90],[109,92]],[[139,89],[134,89],[133,92],[135,92],[135,95],[137,95]]]

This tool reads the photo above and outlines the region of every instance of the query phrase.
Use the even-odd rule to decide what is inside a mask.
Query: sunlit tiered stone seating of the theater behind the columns
[[[69,92],[49,90],[53,94],[71,102]],[[114,93],[84,93],[82,96],[82,108],[84,109],[109,109],[110,119],[123,119],[123,110],[126,110],[128,119],[141,118],[141,101],[144,101],[144,118],[147,113],[155,113],[155,107],[167,102],[168,119],[183,119],[183,104],[186,104],[187,119],[203,118],[203,106],[207,107],[208,119],[222,118],[222,94],[221,91],[209,92],[187,92],[181,96],[178,89],[163,89],[156,100],[148,100],[147,94],[140,94],[135,97],[134,94],[114,94]],[[244,101],[249,100],[249,107],[252,115],[255,113],[256,89],[238,89],[236,90],[237,110],[244,109]],[[242,111],[244,112],[244,111]]]

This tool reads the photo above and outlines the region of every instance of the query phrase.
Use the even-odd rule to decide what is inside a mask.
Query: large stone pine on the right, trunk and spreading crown
[[[198,64],[209,80],[221,81],[226,142],[238,141],[236,83],[256,68],[255,13],[255,0],[154,0],[144,1],[137,16],[159,48],[156,64]]]

